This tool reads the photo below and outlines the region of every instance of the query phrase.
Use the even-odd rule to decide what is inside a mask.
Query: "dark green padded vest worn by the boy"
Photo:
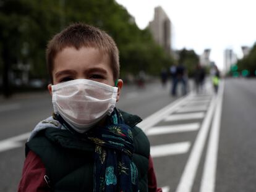
[[[133,161],[139,172],[139,190],[146,192],[150,143],[145,133],[135,126],[141,121],[140,117],[120,112],[134,136]],[[45,165],[51,191],[93,191],[94,144],[77,138],[67,130],[46,128],[26,143],[26,156],[30,150]]]

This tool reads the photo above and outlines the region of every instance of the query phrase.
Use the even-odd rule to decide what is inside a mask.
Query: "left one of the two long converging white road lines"
[[[216,100],[212,99],[210,107],[207,111],[205,119],[203,119],[202,126],[198,131],[192,151],[190,152],[189,159],[182,173],[181,180],[177,186],[176,192],[190,192],[195,180],[198,164],[203,152],[203,146],[207,139],[208,130],[210,127],[213,111],[215,109]],[[207,191],[205,191],[207,192]]]

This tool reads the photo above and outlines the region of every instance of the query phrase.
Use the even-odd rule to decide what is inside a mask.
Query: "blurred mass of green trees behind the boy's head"
[[[114,0],[0,0],[0,64],[30,65],[30,77],[47,78],[45,48],[70,23],[84,22],[105,30],[120,51],[121,75],[158,74],[173,58],[155,44],[148,29],[140,30]],[[3,61],[3,49],[9,53]],[[1,67],[1,66],[0,66]]]

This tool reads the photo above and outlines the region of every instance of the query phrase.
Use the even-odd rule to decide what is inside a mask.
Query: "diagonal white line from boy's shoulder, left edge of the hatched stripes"
[[[156,123],[163,120],[166,115],[171,114],[177,109],[177,107],[181,106],[184,102],[186,102],[186,100],[190,98],[191,95],[192,93],[188,94],[187,96],[183,96],[182,98],[179,98],[174,102],[171,102],[171,104],[169,104],[168,106],[160,109],[160,111],[155,112],[154,114],[148,116],[142,122],[138,123],[137,126],[140,127],[143,131],[147,130],[150,127],[153,127],[153,125],[156,125]]]

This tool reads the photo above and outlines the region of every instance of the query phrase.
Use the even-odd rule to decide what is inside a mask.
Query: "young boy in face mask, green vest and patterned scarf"
[[[114,40],[70,25],[46,51],[54,114],[26,143],[19,191],[161,191],[136,115],[116,109],[123,85]]]

